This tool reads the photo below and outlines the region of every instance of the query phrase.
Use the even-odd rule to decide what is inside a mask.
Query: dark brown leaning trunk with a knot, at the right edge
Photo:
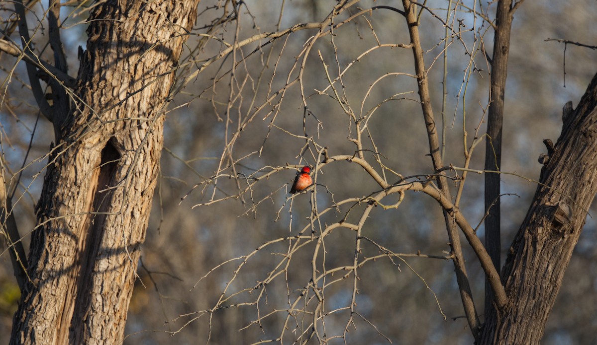
[[[564,107],[562,133],[502,272],[509,298],[488,315],[481,344],[539,344],[547,316],[597,192],[597,74],[576,110]]]

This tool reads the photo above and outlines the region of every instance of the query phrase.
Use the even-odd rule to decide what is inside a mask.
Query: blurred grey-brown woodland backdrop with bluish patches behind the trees
[[[76,70],[93,5],[65,5],[62,42]],[[4,36],[15,15],[11,3],[2,6]],[[29,9],[35,52],[53,61],[43,30],[47,5]],[[411,191],[373,201],[380,185],[350,159],[362,155],[389,185],[408,176],[435,183],[411,39],[396,9],[404,10],[380,1],[201,2],[164,113],[161,170],[125,343],[473,342],[441,207]],[[447,167],[464,166],[464,132],[466,147],[475,138],[484,144],[495,12],[494,2],[417,8]],[[501,198],[502,257],[537,188],[528,179],[539,179],[543,139],[555,141],[562,105],[578,104],[595,73],[594,50],[546,39],[592,43],[596,12],[589,1],[524,2],[516,11],[501,166],[516,175],[500,175],[508,194]],[[19,38],[16,30],[3,42]],[[24,92],[22,57],[4,52],[1,59],[4,176],[9,195],[16,191],[13,213],[27,247],[53,130]],[[482,170],[484,158],[476,147],[469,168]],[[317,185],[288,198],[304,164],[316,168]],[[463,183],[462,173],[445,171],[453,196],[463,185],[460,212],[473,228],[481,223],[483,238],[483,175],[469,173]],[[399,207],[384,207],[392,205]],[[359,220],[357,228],[347,225]],[[330,229],[340,222],[349,228]],[[588,217],[544,344],[595,341],[595,236]],[[8,341],[19,289],[4,248],[0,341]],[[484,272],[466,244],[463,254],[483,320]]]

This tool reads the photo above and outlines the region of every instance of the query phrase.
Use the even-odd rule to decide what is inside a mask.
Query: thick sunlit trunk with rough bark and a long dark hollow
[[[198,2],[109,0],[91,13],[76,106],[54,123],[11,344],[122,343],[164,108]]]

